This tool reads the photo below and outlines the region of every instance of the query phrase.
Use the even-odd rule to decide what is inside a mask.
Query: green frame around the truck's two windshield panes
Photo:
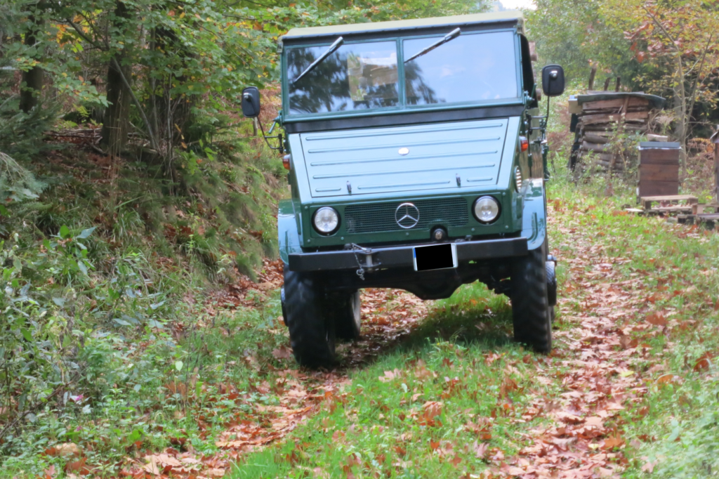
[[[448,27],[444,27],[447,29]],[[282,69],[282,106],[283,106],[283,121],[285,122],[296,122],[308,119],[331,119],[331,118],[347,118],[347,117],[370,117],[374,115],[386,115],[386,114],[398,114],[402,112],[416,112],[416,111],[444,111],[444,110],[455,110],[455,109],[467,109],[475,108],[477,106],[498,106],[498,105],[516,105],[523,104],[524,89],[523,78],[522,78],[522,65],[521,65],[521,39],[520,32],[516,28],[496,28],[496,29],[462,29],[460,36],[465,35],[482,35],[487,33],[496,32],[513,32],[514,38],[514,52],[515,52],[515,65],[516,65],[516,81],[517,81],[517,96],[514,98],[507,99],[496,99],[496,100],[472,100],[472,101],[460,101],[455,103],[438,103],[438,104],[421,104],[421,105],[408,105],[406,99],[406,83],[405,83],[405,63],[404,63],[404,46],[405,40],[418,40],[426,38],[430,45],[432,39],[438,39],[446,35],[452,30],[449,27],[447,31],[444,29],[436,29],[433,32],[426,33],[425,35],[399,35],[392,37],[372,38],[372,39],[357,39],[354,40],[352,37],[347,35],[344,37],[344,45],[355,45],[360,43],[375,43],[375,42],[391,42],[395,41],[397,47],[397,65],[398,65],[398,93],[399,93],[399,104],[397,106],[385,106],[374,109],[359,109],[349,111],[325,111],[322,113],[311,113],[311,114],[290,114],[289,104],[289,91],[290,91],[290,80],[288,79],[288,65],[287,57],[288,51],[296,47],[329,47],[333,40],[323,40],[321,42],[293,42],[292,45],[283,47],[282,56],[280,58],[280,68]],[[437,50],[442,47],[451,47],[452,42],[447,42],[447,45],[440,45]]]

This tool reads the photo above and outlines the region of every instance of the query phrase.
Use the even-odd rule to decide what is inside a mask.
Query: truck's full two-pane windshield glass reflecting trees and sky
[[[446,35],[403,40],[403,58]],[[395,40],[345,42],[294,82],[329,45],[289,47],[288,115],[517,98],[515,32],[462,32],[450,40],[404,65],[398,65]],[[404,68],[404,88],[399,68]]]

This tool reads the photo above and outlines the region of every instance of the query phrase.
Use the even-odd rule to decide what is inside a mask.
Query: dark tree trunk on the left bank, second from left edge
[[[127,7],[122,1],[117,1],[115,17],[120,19],[127,17]],[[119,23],[119,22],[118,22]],[[117,24],[116,27],[122,28]],[[131,96],[130,92],[122,81],[122,76],[129,81],[132,68],[123,65],[125,53],[119,50],[114,54],[114,60],[110,60],[107,67],[107,102],[109,106],[105,110],[105,119],[102,124],[101,145],[111,155],[119,155],[127,144],[127,132],[129,129],[129,109]],[[117,70],[116,66],[122,68]]]

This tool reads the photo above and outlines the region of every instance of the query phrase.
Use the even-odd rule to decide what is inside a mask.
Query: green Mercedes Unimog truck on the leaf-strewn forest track
[[[359,288],[435,299],[477,280],[510,297],[515,338],[549,352],[546,116],[521,14],[292,29],[280,53],[282,304],[298,362],[332,365],[335,340],[359,337]],[[562,93],[561,67],[542,89]],[[257,117],[257,88],[242,108]]]

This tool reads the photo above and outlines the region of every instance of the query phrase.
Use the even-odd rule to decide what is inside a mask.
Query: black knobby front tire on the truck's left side
[[[311,275],[285,270],[285,324],[295,359],[308,368],[331,368],[334,321],[326,314],[324,288]]]

